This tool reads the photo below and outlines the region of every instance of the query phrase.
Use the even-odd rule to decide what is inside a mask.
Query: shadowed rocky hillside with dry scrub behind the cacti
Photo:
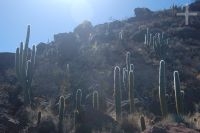
[[[191,4],[190,11],[200,12],[199,2]],[[0,132],[57,132],[61,95],[66,99],[66,131],[73,132],[75,129],[70,123],[73,123],[77,89],[82,90],[83,110],[80,114],[83,118],[76,132],[102,128],[112,132],[140,132],[126,118],[124,121],[114,119],[114,67],[119,66],[121,71],[126,67],[127,52],[130,52],[130,62],[134,64],[135,112],[145,114],[145,120],[151,123],[145,132],[175,132],[183,127],[187,130],[180,132],[198,132],[189,128],[198,129],[200,126],[191,126],[188,121],[179,125],[162,124],[162,119],[155,120],[161,116],[158,96],[161,59],[166,62],[169,113],[176,112],[173,90],[175,70],[179,71],[180,86],[185,93],[184,114],[191,113],[187,120],[193,119],[193,114],[200,110],[200,16],[191,17],[190,25],[185,26],[184,18],[175,16],[176,12],[182,12],[182,9],[174,7],[153,12],[147,8],[136,8],[135,17],[96,26],[85,21],[73,32],[56,34],[52,42],[38,44],[32,81],[34,109],[24,105],[23,89],[14,69],[14,54],[0,53]],[[161,47],[162,52],[144,44],[147,29],[152,36],[160,34],[168,39],[166,47]],[[150,41],[150,44],[153,42]],[[100,97],[97,112],[90,109],[94,91],[98,91]],[[122,90],[122,100],[122,112],[127,116],[126,87]],[[41,125],[35,127],[38,111],[44,117]],[[97,116],[97,119],[92,116]],[[200,121],[198,117],[194,118],[193,125]],[[158,123],[160,121],[161,124]]]

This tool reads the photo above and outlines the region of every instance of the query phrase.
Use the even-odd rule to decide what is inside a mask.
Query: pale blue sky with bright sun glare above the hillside
[[[15,52],[31,25],[30,44],[53,40],[54,34],[71,32],[84,20],[93,25],[134,16],[136,7],[153,11],[191,0],[0,0],[0,52]]]

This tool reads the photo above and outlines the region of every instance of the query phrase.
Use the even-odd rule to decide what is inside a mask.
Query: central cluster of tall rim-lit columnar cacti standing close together
[[[126,67],[123,68],[123,88],[128,88],[128,98],[130,105],[130,113],[134,112],[134,68],[130,64],[130,52],[126,53]],[[122,86],[121,86],[121,71],[120,67],[114,69],[114,96],[116,119],[121,119],[121,101],[122,101]]]

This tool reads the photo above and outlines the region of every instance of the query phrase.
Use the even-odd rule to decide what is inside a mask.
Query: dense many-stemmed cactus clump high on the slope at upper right
[[[147,28],[147,32],[145,34],[144,44],[150,50],[153,50],[155,54],[164,59],[166,56],[166,50],[168,48],[169,39],[165,39],[164,32],[161,33],[149,33],[149,28]]]

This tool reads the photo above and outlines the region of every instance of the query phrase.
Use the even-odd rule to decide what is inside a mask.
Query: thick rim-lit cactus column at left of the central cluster
[[[121,119],[121,77],[120,68],[118,66],[114,69],[114,96],[115,96],[115,111],[116,120]]]

